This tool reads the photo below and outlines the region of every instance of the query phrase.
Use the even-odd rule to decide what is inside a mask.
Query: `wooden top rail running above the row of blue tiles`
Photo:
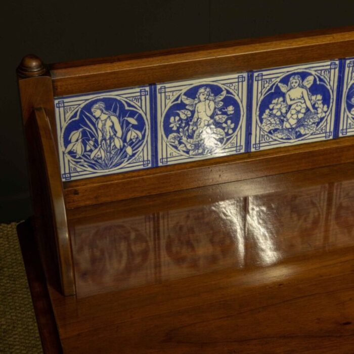
[[[50,66],[55,96],[354,56],[354,27]]]

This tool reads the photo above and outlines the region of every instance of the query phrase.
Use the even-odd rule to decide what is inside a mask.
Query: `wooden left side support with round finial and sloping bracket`
[[[48,282],[65,295],[71,295],[75,293],[75,287],[57,162],[57,140],[53,139],[56,124],[52,79],[46,66],[33,55],[23,58],[17,73],[27,141],[35,236]],[[36,114],[37,107],[41,108]]]

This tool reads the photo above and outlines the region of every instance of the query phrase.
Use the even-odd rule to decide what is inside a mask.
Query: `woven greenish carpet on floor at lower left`
[[[0,353],[42,353],[16,223],[0,224]]]

